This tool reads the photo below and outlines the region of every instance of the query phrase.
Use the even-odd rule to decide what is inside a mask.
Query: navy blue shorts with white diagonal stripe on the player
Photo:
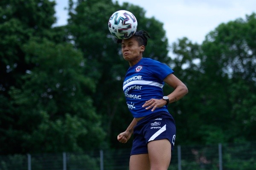
[[[131,155],[148,153],[147,144],[153,140],[168,139],[173,148],[175,134],[175,122],[170,113],[158,112],[148,115],[134,127]]]

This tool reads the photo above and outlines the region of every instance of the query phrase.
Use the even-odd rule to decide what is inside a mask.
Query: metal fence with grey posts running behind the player
[[[128,170],[130,150],[0,156],[0,170]],[[177,146],[168,170],[256,170],[256,142]]]

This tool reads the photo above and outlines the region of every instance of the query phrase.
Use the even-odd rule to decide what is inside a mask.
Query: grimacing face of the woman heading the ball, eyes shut
[[[139,46],[139,43],[134,37],[122,40],[122,54],[126,61],[132,62],[142,58],[144,45]]]

